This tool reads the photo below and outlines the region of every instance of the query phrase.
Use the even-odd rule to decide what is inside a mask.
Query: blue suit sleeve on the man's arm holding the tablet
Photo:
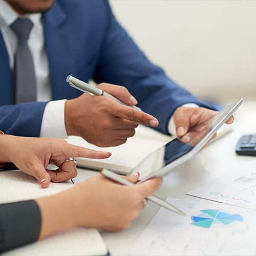
[[[138,100],[139,107],[159,120],[157,129],[166,134],[169,118],[178,106],[196,103],[214,109],[178,86],[160,67],[148,60],[117,22],[107,1],[105,4],[109,26],[94,76],[96,82],[110,82],[126,87]]]

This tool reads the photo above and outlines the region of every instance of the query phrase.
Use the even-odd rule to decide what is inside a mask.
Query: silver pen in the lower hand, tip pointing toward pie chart
[[[100,173],[105,176],[106,178],[109,178],[110,180],[114,180],[114,181],[117,181],[123,185],[127,185],[127,186],[133,186],[134,183],[128,181],[128,180],[125,180],[123,179],[122,177],[120,177],[118,174],[115,174],[114,172],[111,172],[111,170],[108,170],[106,168],[102,168]],[[170,211],[174,211],[176,212],[177,214],[180,214],[180,215],[183,215],[183,216],[186,216],[186,214],[181,211],[180,209],[178,209],[176,206],[164,201],[163,199],[153,195],[153,196],[148,196],[147,197],[148,200],[150,200],[151,202],[154,202],[164,208],[166,208],[167,210],[170,210]]]

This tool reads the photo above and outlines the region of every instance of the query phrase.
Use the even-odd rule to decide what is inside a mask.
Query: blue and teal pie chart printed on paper
[[[239,214],[227,214],[226,212],[218,209],[205,209],[200,210],[200,213],[196,216],[191,216],[192,225],[210,228],[214,224],[228,225],[233,222],[242,222],[243,217]]]

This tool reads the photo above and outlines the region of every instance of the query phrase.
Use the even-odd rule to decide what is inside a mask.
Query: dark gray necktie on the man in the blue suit
[[[17,18],[10,26],[18,37],[14,63],[15,103],[36,101],[36,79],[28,37],[32,29],[29,19]]]

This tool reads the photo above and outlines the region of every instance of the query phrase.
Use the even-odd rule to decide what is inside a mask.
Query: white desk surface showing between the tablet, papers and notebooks
[[[234,114],[234,118],[231,133],[210,143],[194,159],[175,168],[165,176],[156,195],[163,199],[168,196],[191,199],[191,196],[185,195],[187,191],[220,177],[233,168],[240,168],[239,166],[244,162],[252,162],[255,159],[254,157],[237,156],[235,147],[241,135],[256,132],[256,101],[246,102],[245,100],[240,109]],[[97,174],[97,172],[79,169],[75,181],[80,182]],[[195,197],[193,199],[204,200]],[[118,233],[102,232],[111,255],[126,255],[158,209],[159,206],[150,202],[148,208],[141,210],[140,216],[134,220],[130,228]]]

